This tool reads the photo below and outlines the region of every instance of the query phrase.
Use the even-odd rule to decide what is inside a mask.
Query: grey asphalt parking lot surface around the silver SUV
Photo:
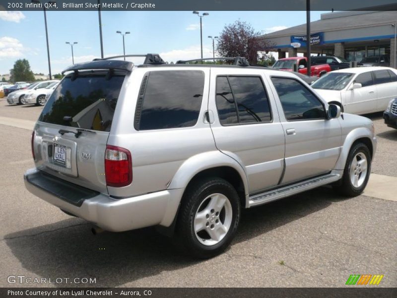
[[[378,136],[368,192],[344,199],[321,187],[245,210],[231,247],[196,261],[152,228],[93,236],[90,224],[28,193],[29,121],[41,109],[0,99],[1,287],[344,287],[351,274],[381,274],[377,287],[397,286],[397,201],[393,187],[380,186],[397,182],[397,130],[381,113],[367,115]],[[7,282],[18,275],[96,283]]]

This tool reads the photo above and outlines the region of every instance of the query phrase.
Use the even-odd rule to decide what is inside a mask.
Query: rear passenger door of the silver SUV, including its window
[[[245,169],[250,194],[276,186],[283,171],[284,133],[268,88],[263,72],[211,69],[215,144]]]

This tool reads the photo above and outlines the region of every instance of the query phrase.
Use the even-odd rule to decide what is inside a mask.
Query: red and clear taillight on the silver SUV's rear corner
[[[105,178],[107,186],[123,187],[131,184],[132,158],[129,150],[106,146]]]

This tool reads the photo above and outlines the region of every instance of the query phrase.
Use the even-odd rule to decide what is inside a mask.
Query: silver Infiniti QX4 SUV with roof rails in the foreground
[[[35,125],[25,185],[103,230],[162,227],[208,258],[229,245],[242,208],[367,184],[371,120],[340,115],[295,74],[156,54],[64,73]]]

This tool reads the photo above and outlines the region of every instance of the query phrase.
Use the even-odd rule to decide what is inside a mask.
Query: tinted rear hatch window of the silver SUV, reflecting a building
[[[65,77],[54,90],[39,121],[109,132],[124,75],[79,75]],[[64,117],[71,117],[71,121]]]

